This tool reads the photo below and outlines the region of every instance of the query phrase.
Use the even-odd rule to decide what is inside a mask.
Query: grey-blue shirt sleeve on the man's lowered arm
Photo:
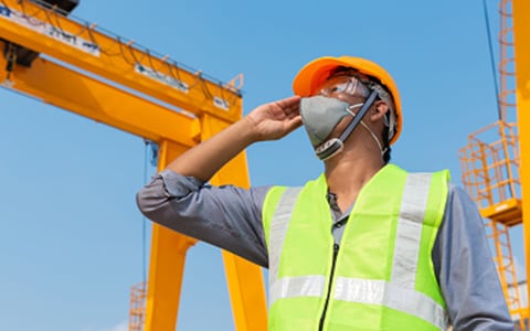
[[[513,330],[483,218],[467,193],[452,184],[433,263],[453,330]]]

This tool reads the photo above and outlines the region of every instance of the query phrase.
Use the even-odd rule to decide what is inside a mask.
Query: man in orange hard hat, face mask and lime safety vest
[[[447,171],[389,163],[403,122],[390,74],[326,56],[294,92],[178,157],[138,193],[141,212],[268,267],[271,330],[513,330],[473,201]],[[205,184],[250,145],[301,125],[318,179]]]

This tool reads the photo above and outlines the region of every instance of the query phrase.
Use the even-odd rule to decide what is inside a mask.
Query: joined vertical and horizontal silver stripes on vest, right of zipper
[[[411,173],[406,177],[398,217],[390,282],[338,277],[335,299],[381,305],[446,330],[447,312],[444,307],[427,295],[415,290],[422,225],[431,179],[430,173]]]

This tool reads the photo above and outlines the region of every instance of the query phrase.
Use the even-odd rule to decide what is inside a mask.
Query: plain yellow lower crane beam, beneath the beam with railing
[[[0,68],[7,61],[0,56]],[[7,73],[4,73],[6,77]],[[57,63],[36,58],[31,68],[14,66],[12,88],[46,104],[153,141],[197,145],[199,119],[165,108]]]

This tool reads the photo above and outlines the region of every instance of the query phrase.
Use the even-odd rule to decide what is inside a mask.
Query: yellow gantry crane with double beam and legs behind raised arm
[[[0,82],[7,78],[3,83],[14,90],[157,142],[159,169],[243,114],[234,86],[241,77],[232,84],[206,78],[56,8],[1,0],[0,39],[8,55],[0,56]],[[45,58],[35,58],[31,67],[17,65],[14,44]],[[214,184],[229,182],[250,184],[244,153],[212,179]],[[144,330],[176,329],[186,253],[194,243],[153,225],[147,296],[142,286],[132,289],[130,330],[142,323]],[[226,252],[222,256],[236,330],[266,330],[261,268]]]

